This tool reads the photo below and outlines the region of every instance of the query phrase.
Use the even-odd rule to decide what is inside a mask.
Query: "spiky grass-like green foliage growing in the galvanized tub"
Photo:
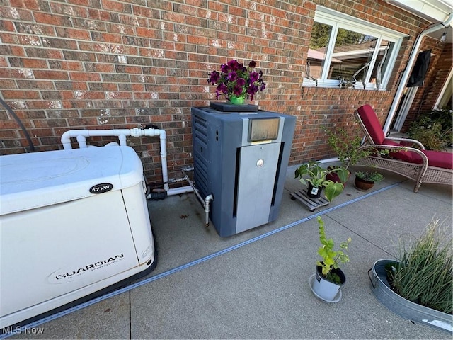
[[[394,290],[406,300],[453,312],[451,237],[433,220],[411,246],[400,241],[400,261],[389,271]]]

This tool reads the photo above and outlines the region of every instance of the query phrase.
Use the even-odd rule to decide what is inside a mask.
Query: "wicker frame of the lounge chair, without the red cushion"
[[[453,170],[443,169],[437,166],[430,166],[428,164],[428,157],[426,157],[426,155],[420,151],[420,149],[424,150],[425,147],[423,147],[422,143],[420,143],[418,140],[399,137],[386,137],[386,140],[394,140],[395,142],[411,142],[415,145],[418,145],[420,149],[416,149],[414,147],[406,147],[404,145],[398,147],[394,145],[375,144],[357,111],[355,111],[355,117],[357,118],[360,124],[360,128],[362,128],[362,131],[365,133],[366,137],[365,143],[360,147],[360,149],[388,149],[389,151],[401,151],[401,149],[403,149],[416,152],[423,159],[423,164],[416,164],[404,162],[399,159],[382,157],[379,153],[373,153],[375,155],[360,159],[360,161],[357,162],[357,165],[372,166],[377,169],[384,169],[396,174],[400,174],[401,176],[405,176],[406,178],[415,181],[415,186],[413,188],[414,193],[418,192],[418,189],[420,188],[422,183],[447,184],[450,186],[453,185]]]

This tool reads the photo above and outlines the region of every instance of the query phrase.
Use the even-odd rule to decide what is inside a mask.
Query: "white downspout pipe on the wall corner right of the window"
[[[383,128],[384,135],[386,135],[387,132],[389,132],[390,130],[390,125],[392,120],[394,119],[396,108],[398,108],[398,103],[401,99],[401,95],[403,94],[404,88],[406,87],[408,78],[411,76],[413,63],[415,62],[415,58],[418,55],[418,48],[420,47],[422,39],[425,37],[425,35],[435,32],[436,30],[448,27],[450,23],[452,23],[452,20],[453,13],[449,13],[449,16],[446,21],[444,21],[443,23],[437,23],[433,25],[432,28],[428,28],[427,30],[422,31],[422,33],[420,33],[420,35],[418,35],[417,39],[415,40],[415,43],[412,47],[411,55],[409,56],[408,64],[406,65],[406,69],[404,69],[403,75],[401,76],[401,81],[399,82],[398,89],[396,90],[394,101],[393,103],[391,103],[389,115],[387,115],[387,119],[384,124]]]

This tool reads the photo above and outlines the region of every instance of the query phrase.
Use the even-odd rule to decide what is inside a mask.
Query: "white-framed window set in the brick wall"
[[[384,90],[405,36],[318,6],[303,85]]]

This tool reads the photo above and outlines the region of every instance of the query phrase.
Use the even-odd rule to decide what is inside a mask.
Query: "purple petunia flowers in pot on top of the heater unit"
[[[216,98],[224,94],[226,99],[235,104],[243,104],[245,98],[253,101],[253,96],[258,91],[263,91],[266,87],[262,77],[262,71],[256,71],[256,62],[253,60],[248,63],[248,67],[237,60],[230,60],[220,67],[220,73],[212,71],[207,82],[217,85]]]

